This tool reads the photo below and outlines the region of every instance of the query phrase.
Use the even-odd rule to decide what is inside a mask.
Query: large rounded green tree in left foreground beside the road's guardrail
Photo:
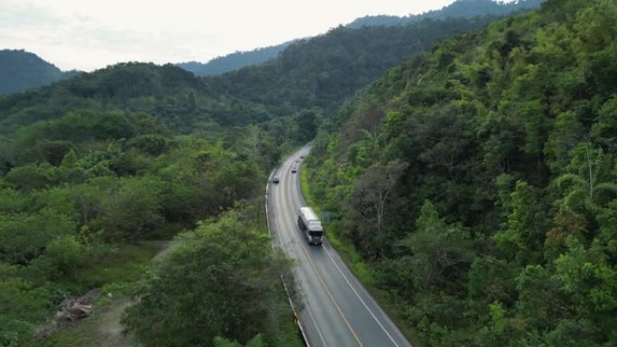
[[[289,263],[244,218],[229,212],[180,238],[123,318],[145,345],[215,346],[216,336],[247,342],[265,330]]]

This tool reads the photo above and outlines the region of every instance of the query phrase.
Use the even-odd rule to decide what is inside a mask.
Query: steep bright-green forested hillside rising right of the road
[[[392,68],[318,133],[314,197],[424,346],[617,345],[617,3]]]

